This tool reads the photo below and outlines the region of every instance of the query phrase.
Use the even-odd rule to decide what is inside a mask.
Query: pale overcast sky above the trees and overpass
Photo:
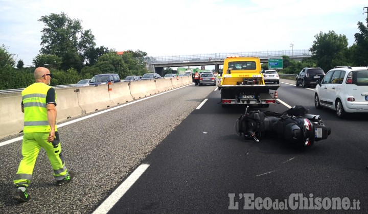
[[[32,65],[41,16],[64,12],[90,29],[97,46],[148,56],[309,49],[319,32],[346,35],[365,23],[366,0],[0,0],[0,45]]]

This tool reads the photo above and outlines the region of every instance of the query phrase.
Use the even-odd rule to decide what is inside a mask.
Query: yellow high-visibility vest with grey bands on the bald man
[[[46,108],[46,95],[50,88],[51,86],[44,83],[33,83],[21,92],[25,113],[24,133],[51,131]]]

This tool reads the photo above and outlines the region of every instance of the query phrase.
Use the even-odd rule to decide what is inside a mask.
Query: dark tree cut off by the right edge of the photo
[[[365,19],[368,23],[368,17]],[[355,44],[351,46],[352,62],[356,66],[368,65],[368,28],[362,22],[358,22],[360,33],[354,34]]]

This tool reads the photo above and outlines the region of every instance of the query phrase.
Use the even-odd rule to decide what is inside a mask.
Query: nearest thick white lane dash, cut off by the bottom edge
[[[142,164],[134,172],[129,175],[125,181],[120,184],[120,186],[115,189],[115,191],[104,201],[102,204],[93,212],[93,214],[102,214],[107,213],[124,194],[128,191],[128,189],[135,183],[136,180],[141,177],[141,175],[147,170],[149,164]]]

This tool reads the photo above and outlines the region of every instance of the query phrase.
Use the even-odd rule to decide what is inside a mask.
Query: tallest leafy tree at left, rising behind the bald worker
[[[65,13],[41,16],[38,21],[45,24],[41,31],[40,53],[60,57],[61,69],[74,67],[80,71],[86,61],[86,53],[96,45],[91,31],[83,31],[82,21],[71,19]]]

